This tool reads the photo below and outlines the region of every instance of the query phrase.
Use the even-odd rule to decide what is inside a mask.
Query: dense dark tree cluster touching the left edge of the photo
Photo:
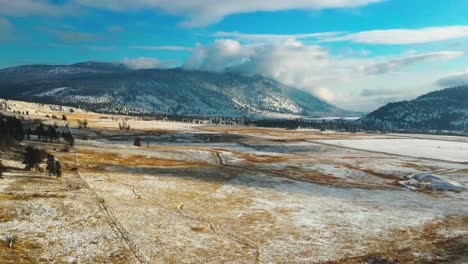
[[[0,116],[0,149],[7,149],[24,137],[25,130],[21,120],[12,116]]]

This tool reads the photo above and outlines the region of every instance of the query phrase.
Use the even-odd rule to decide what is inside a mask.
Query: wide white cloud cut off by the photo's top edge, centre
[[[15,0],[16,1],[16,0]],[[114,11],[162,10],[165,13],[184,16],[183,26],[198,27],[217,23],[224,17],[257,11],[280,11],[291,9],[320,10],[329,8],[354,8],[383,0],[74,0],[93,7]]]

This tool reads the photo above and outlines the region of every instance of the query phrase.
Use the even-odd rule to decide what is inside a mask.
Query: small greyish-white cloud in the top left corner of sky
[[[62,16],[75,15],[71,4],[53,4],[47,0],[0,0],[0,15],[4,16]]]

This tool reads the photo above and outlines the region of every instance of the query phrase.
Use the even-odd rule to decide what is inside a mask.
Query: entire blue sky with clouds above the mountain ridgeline
[[[468,82],[468,1],[0,0],[0,68],[262,74],[367,111]]]

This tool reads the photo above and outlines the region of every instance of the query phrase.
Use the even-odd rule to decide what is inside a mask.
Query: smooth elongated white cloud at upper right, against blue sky
[[[351,41],[364,44],[421,44],[468,37],[468,26],[426,27],[420,29],[371,30],[331,37],[324,42]]]

